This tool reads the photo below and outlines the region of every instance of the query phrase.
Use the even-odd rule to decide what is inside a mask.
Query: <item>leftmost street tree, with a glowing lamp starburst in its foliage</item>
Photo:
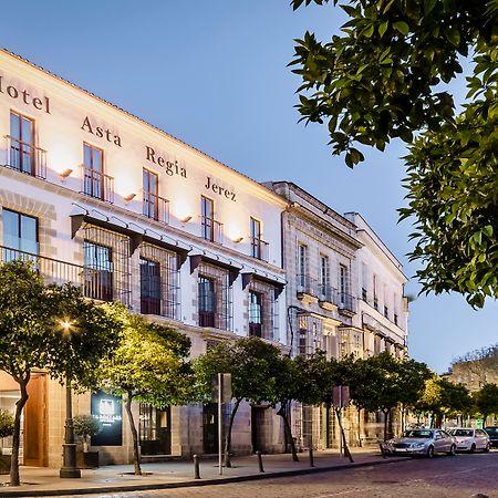
[[[80,289],[70,283],[44,284],[32,262],[0,266],[0,370],[12,376],[21,392],[14,413],[11,486],[20,484],[21,413],[32,370],[42,369],[61,382],[89,387],[92,372],[116,344],[120,330]]]

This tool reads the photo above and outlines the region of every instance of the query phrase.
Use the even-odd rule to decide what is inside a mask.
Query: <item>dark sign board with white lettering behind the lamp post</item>
[[[120,397],[103,391],[92,393],[91,414],[96,418],[102,430],[92,436],[92,446],[123,445],[123,405]]]

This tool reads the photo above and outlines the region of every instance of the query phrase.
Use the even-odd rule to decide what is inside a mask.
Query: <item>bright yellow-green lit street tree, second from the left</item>
[[[194,378],[187,361],[190,340],[176,330],[132,314],[124,307],[114,305],[110,312],[124,329],[118,347],[100,365],[98,384],[123,397],[133,436],[134,471],[142,475],[132,402],[164,407],[193,400]]]

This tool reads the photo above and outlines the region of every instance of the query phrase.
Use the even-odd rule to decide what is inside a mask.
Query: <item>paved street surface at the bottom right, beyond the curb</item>
[[[498,452],[248,483],[86,495],[92,498],[498,498]]]

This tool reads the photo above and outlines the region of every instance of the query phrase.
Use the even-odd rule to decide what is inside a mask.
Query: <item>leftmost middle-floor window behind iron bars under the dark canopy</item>
[[[101,301],[113,300],[113,251],[110,247],[85,240],[85,295]]]

